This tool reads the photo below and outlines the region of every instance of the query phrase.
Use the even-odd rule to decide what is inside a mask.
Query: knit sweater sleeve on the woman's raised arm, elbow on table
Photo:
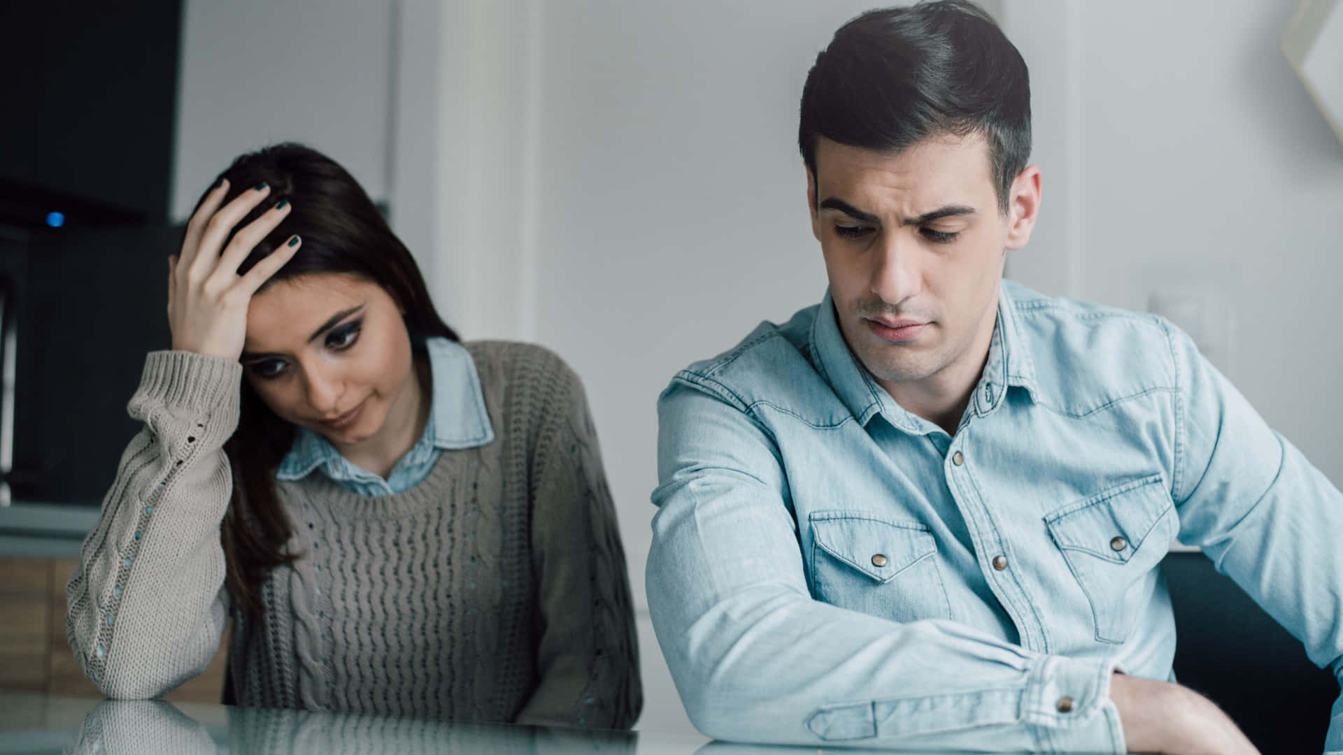
[[[232,482],[242,365],[152,352],[129,412],[144,422],[121,457],[97,527],[66,584],[66,637],[113,699],[157,697],[200,673],[228,614],[219,524]]]

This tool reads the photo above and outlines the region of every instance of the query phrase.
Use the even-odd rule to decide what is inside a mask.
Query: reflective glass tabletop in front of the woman
[[[657,732],[422,721],[0,691],[0,755],[808,755],[874,752],[706,742]],[[940,755],[947,755],[945,752]]]

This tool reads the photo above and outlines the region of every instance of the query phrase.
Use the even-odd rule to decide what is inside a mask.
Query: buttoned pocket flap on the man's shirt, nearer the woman
[[[913,521],[885,521],[849,512],[814,512],[810,521],[821,549],[878,583],[890,582],[937,552],[932,532]]]

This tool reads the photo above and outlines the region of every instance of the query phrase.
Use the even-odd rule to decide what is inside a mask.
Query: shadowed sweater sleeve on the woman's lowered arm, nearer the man
[[[629,728],[643,693],[624,551],[583,387],[563,364],[556,380],[532,485],[540,684],[517,723]]]

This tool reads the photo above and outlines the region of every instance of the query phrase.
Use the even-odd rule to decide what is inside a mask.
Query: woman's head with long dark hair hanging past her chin
[[[242,412],[224,446],[234,472],[220,532],[228,588],[243,615],[258,619],[262,579],[294,558],[286,548],[293,527],[274,481],[294,427],[309,427],[337,447],[383,431],[389,416],[404,415],[398,407],[406,406],[407,384],[415,384],[414,355],[426,339],[457,335],[377,207],[326,156],[279,144],[238,157],[219,177],[228,180],[226,203],[270,187],[267,200],[235,228],[282,200],[291,206],[239,274],[291,236],[302,239],[248,305]]]

